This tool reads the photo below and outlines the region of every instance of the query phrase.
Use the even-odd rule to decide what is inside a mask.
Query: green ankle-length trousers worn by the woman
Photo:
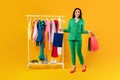
[[[80,64],[84,64],[84,59],[82,56],[82,41],[81,40],[69,40],[70,51],[71,51],[71,58],[72,58],[72,65],[76,64],[76,51],[80,61]]]

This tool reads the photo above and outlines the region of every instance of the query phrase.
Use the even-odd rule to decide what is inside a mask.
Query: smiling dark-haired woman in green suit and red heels
[[[73,17],[69,20],[68,28],[67,29],[59,29],[60,31],[69,32],[69,45],[70,45],[70,51],[71,51],[71,59],[72,59],[72,70],[70,73],[74,73],[76,70],[76,51],[77,55],[80,61],[80,64],[82,65],[82,72],[86,71],[86,65],[84,64],[84,59],[82,56],[82,36],[81,34],[91,34],[93,35],[93,32],[91,31],[85,31],[84,30],[84,20],[82,19],[82,12],[81,9],[76,8],[73,11]],[[75,51],[76,49],[76,51]]]

